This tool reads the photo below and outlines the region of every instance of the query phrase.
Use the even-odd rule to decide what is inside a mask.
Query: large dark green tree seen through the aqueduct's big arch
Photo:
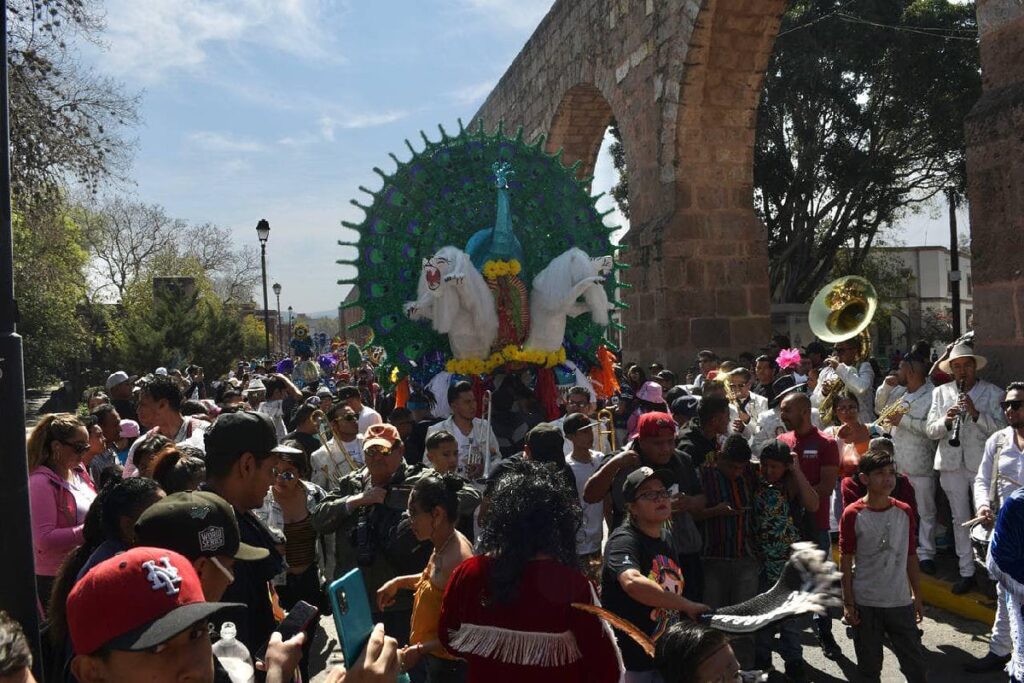
[[[879,231],[965,185],[981,92],[973,3],[795,0],[758,109],[755,206],[776,301],[803,302]]]

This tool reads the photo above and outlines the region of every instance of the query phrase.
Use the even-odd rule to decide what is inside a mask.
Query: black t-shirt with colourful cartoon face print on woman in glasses
[[[633,524],[623,524],[608,537],[604,547],[604,566],[601,569],[601,602],[604,608],[646,633],[658,638],[679,618],[679,612],[655,609],[631,598],[618,584],[618,575],[627,569],[636,569],[656,582],[666,591],[683,594],[683,572],[676,563],[678,552],[672,537],[665,529],[660,538],[652,539]],[[649,671],[653,659],[633,642],[629,636],[615,633],[623,651],[623,663],[629,671]]]

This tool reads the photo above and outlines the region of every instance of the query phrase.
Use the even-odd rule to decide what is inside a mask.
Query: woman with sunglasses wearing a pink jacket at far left
[[[49,600],[60,563],[82,544],[96,488],[82,465],[89,431],[70,413],[44,415],[29,435],[29,498],[36,587]]]

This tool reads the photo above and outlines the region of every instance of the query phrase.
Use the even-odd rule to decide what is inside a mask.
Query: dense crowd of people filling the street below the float
[[[888,640],[925,681],[920,574],[951,536],[951,590],[975,586],[965,524],[991,528],[1024,481],[1024,383],[982,380],[966,344],[887,372],[855,340],[790,346],[703,350],[678,376],[624,362],[614,396],[568,388],[555,420],[514,375],[483,411],[478,379],[399,399],[258,361],[115,372],[29,438],[46,680],[310,680],[318,622],[278,625],[299,601],[330,611],[325,584],[358,567],[378,627],[328,680],[807,681],[811,620],[729,639],[701,615],[811,542],[841,556],[842,613],[813,617],[824,656],[842,618],[863,680]],[[1022,680],[1017,582],[999,572],[969,671]],[[0,615],[0,677],[28,667]]]

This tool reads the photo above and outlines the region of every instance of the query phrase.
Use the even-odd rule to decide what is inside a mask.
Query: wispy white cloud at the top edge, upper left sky
[[[339,61],[323,13],[316,0],[110,0],[102,63],[119,76],[157,82],[200,68],[217,45]]]

